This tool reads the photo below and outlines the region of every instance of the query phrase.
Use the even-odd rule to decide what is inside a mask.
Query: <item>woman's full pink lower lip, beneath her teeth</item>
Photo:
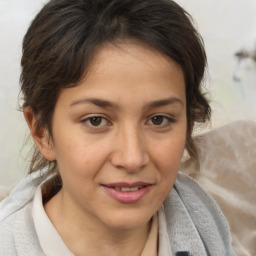
[[[136,191],[121,191],[103,186],[106,192],[120,203],[132,204],[140,201],[150,190],[151,186],[146,186]]]

